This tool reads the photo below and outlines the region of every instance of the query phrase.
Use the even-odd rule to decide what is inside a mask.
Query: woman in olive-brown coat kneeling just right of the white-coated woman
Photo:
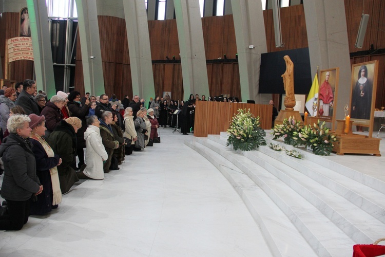
[[[112,113],[108,111],[103,112],[99,121],[100,136],[102,137],[104,149],[106,150],[108,155],[107,161],[103,164],[103,171],[104,173],[108,173],[110,172],[113,150],[119,147],[119,142],[115,140],[111,127]]]

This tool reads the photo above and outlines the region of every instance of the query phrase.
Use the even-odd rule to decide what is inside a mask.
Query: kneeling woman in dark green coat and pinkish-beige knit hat
[[[44,108],[45,109],[45,108]],[[72,168],[76,149],[78,148],[76,132],[82,127],[82,121],[77,117],[69,117],[60,121],[55,130],[49,135],[47,142],[53,152],[59,155],[63,162],[57,167],[60,188],[62,193],[67,193],[73,184],[79,181],[75,170]]]

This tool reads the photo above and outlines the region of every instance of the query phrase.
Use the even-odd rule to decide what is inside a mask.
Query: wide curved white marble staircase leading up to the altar
[[[383,181],[306,150],[304,159],[268,146],[235,152],[226,140],[221,133],[185,144],[232,184],[274,256],[352,256],[354,244],[385,236]]]

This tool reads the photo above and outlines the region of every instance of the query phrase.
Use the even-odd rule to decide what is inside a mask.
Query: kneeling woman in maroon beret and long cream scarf
[[[44,215],[52,209],[56,209],[62,202],[62,191],[60,190],[59,175],[56,166],[62,163],[59,155],[55,154],[44,139],[47,128],[45,117],[30,114],[29,127],[32,129],[29,140],[33,144],[33,154],[36,159],[36,174],[44,187],[42,194],[31,199],[30,214]]]

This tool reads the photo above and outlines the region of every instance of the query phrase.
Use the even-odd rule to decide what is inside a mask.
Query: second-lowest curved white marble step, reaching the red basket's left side
[[[283,181],[245,156],[207,138],[196,139],[196,143],[209,147],[208,154],[217,151],[246,173],[283,211],[318,255],[351,255],[354,241]]]

